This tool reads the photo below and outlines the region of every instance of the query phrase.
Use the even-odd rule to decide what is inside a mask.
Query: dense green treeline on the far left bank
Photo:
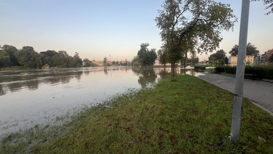
[[[18,50],[11,45],[0,45],[0,67],[67,68],[79,67],[83,61],[88,66],[94,66],[87,58],[82,60],[77,52],[74,56],[69,56],[66,51],[47,50],[38,53],[32,46],[23,46]]]

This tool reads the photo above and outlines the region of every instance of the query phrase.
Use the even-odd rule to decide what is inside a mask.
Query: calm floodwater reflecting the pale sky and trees
[[[0,71],[0,136],[48,123],[75,107],[152,86],[170,70],[115,66]],[[177,71],[198,74],[193,69]]]

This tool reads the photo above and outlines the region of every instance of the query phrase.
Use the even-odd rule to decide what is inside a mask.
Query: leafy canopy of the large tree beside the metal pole
[[[211,0],[165,0],[155,19],[168,50],[169,62],[181,59],[181,52],[212,52],[223,38],[222,30],[233,30],[237,18],[229,4]],[[191,42],[190,42],[191,40]]]

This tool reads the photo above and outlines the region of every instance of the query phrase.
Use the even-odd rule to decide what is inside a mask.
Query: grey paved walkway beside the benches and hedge
[[[196,74],[196,77],[234,93],[235,76],[205,72]],[[244,79],[243,96],[271,112],[271,115],[273,114],[273,83]]]

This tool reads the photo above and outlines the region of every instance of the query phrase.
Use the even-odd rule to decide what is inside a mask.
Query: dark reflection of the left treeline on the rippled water
[[[35,70],[7,73],[1,77],[1,83],[8,82],[7,86],[0,87],[0,96],[5,95],[7,90],[11,92],[18,91],[22,88],[28,90],[38,89],[39,84],[57,84],[69,83],[73,78],[80,81],[83,71],[60,69],[60,70]]]

